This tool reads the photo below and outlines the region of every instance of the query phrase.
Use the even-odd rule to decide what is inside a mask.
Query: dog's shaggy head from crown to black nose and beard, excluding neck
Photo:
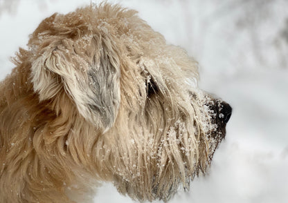
[[[168,200],[206,172],[231,107],[199,90],[197,62],[134,11],[54,14],[28,47],[27,88],[54,115],[45,124],[67,117],[55,140],[71,160],[138,200]]]

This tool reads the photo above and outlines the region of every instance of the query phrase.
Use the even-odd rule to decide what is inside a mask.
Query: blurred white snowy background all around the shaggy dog
[[[94,1],[95,2],[95,1]],[[96,1],[97,2],[97,1]],[[288,202],[288,1],[123,0],[200,64],[200,88],[233,106],[210,175],[171,202]],[[44,17],[89,0],[0,0],[0,79]],[[104,184],[95,202],[132,202]]]

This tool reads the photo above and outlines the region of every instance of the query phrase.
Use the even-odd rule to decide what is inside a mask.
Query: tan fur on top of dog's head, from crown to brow
[[[86,45],[95,36],[113,38],[112,42],[124,55],[121,59],[137,65],[129,66],[129,69],[138,67],[136,71],[148,72],[142,76],[154,78],[156,84],[165,86],[175,80],[177,85],[186,80],[186,83],[197,86],[197,63],[194,59],[181,48],[168,46],[161,34],[138,18],[136,11],[117,6],[88,6],[68,14],[53,14],[40,23],[31,35],[28,47],[37,50],[38,46],[71,39],[73,46],[85,52]]]

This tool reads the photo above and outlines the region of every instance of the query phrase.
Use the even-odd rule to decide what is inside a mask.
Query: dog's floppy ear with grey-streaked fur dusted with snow
[[[89,43],[46,40],[48,46],[38,48],[32,63],[33,88],[40,101],[65,90],[79,113],[106,131],[114,124],[120,104],[119,56],[109,39],[84,40]]]

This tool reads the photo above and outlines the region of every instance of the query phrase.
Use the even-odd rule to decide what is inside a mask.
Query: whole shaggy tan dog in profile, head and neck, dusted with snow
[[[89,202],[97,182],[168,201],[206,173],[231,107],[134,10],[53,14],[0,84],[0,202]]]

